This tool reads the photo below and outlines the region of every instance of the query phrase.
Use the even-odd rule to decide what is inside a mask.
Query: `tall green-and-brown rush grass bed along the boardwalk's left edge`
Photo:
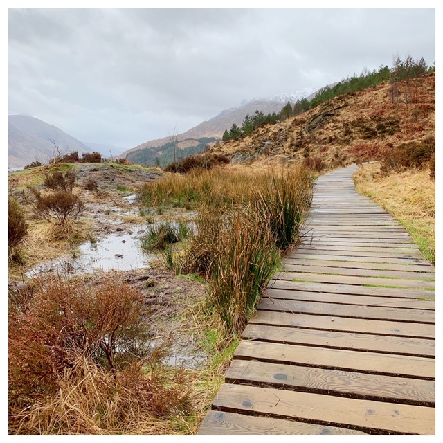
[[[184,198],[188,186],[199,196],[188,246],[183,253],[168,248],[165,265],[208,278],[208,306],[217,312],[226,336],[242,332],[280,264],[280,251],[298,239],[311,202],[311,180],[311,171],[303,166],[280,172],[224,168],[165,178],[177,186],[168,191],[175,199]],[[151,195],[163,192],[165,183],[159,188],[150,183]]]

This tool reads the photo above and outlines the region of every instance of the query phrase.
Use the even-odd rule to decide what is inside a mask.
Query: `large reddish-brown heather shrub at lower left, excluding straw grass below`
[[[145,303],[127,284],[100,286],[60,275],[35,280],[28,302],[10,296],[9,382],[13,397],[53,393],[78,356],[116,372],[146,350]],[[16,288],[15,292],[25,289]],[[15,300],[21,300],[21,305]]]

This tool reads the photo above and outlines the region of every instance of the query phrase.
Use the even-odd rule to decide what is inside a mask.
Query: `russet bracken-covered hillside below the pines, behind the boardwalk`
[[[308,156],[329,167],[381,159],[400,145],[435,139],[435,73],[345,93],[296,117],[255,129],[211,150],[233,163],[298,163]]]

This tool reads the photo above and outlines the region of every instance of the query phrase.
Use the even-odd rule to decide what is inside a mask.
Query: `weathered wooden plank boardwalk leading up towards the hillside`
[[[435,434],[435,268],[355,171],[316,181],[199,435]]]

